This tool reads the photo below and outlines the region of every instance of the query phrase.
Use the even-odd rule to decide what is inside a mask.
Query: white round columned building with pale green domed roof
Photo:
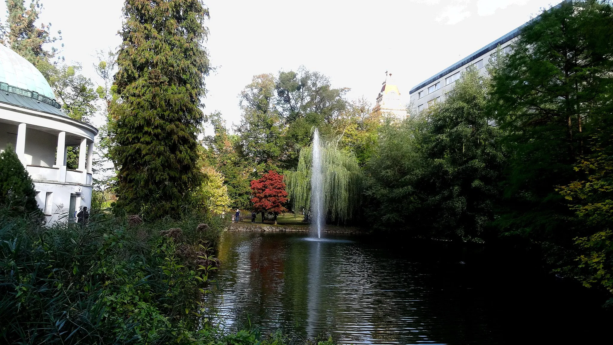
[[[34,182],[47,223],[75,221],[91,206],[96,127],[60,110],[39,70],[0,44],[0,150],[12,144]],[[69,146],[78,146],[78,169],[66,169]]]

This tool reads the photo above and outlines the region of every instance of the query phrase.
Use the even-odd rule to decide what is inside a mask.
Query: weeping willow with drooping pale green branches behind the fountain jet
[[[311,167],[313,144],[300,150],[298,167],[285,173],[287,194],[294,213],[311,208]],[[321,145],[321,172],[324,210],[332,221],[351,219],[360,205],[362,170],[353,153],[338,150],[337,143]]]

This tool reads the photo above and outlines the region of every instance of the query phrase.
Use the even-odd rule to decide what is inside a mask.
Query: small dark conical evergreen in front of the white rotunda
[[[12,146],[0,153],[0,207],[39,213],[32,179]]]

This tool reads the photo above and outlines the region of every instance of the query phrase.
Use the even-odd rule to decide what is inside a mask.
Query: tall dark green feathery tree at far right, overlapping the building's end
[[[591,150],[586,135],[610,127],[612,50],[611,5],[568,1],[522,28],[490,70],[492,115],[511,153],[501,232],[571,245],[573,215],[555,187],[576,180],[573,165]]]

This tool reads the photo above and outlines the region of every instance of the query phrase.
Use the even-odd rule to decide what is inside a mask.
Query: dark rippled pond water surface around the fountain
[[[227,232],[219,259],[213,304],[227,327],[348,344],[598,344],[612,327],[566,282],[444,245]]]

